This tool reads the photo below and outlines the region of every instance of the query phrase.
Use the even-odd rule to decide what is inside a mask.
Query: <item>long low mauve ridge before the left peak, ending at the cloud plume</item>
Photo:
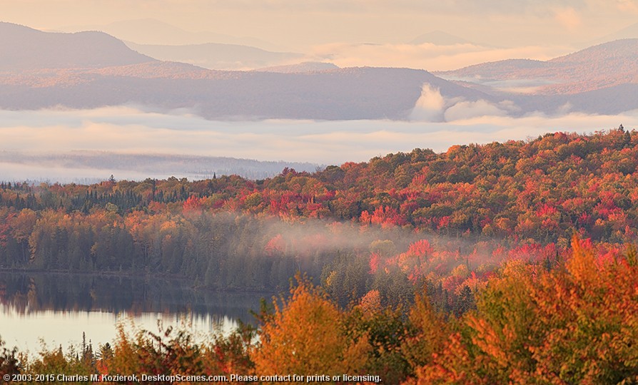
[[[423,83],[430,83],[447,98],[492,99],[426,71],[406,68],[272,73],[208,71],[161,62],[104,68],[71,78],[66,73],[47,74],[46,81],[37,74],[33,77],[28,83],[6,81],[0,88],[0,108],[96,108],[133,103],[164,110],[192,108],[209,119],[350,120],[407,118],[421,96]],[[41,83],[32,86],[37,81]]]

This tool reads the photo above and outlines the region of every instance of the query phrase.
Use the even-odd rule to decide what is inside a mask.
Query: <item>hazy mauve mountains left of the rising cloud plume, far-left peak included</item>
[[[11,44],[5,42],[6,46],[15,50],[29,42],[19,62],[31,66],[21,64],[20,71],[0,77],[0,108],[134,104],[161,110],[188,108],[210,119],[402,119],[420,98],[423,83],[430,83],[447,98],[491,98],[421,70],[213,71],[156,61],[100,32],[57,34],[14,24],[3,26],[12,32]],[[76,46],[86,46],[86,51],[77,48],[72,54],[59,54],[71,39],[79,37],[81,44]],[[14,56],[0,56],[0,68],[15,66]]]

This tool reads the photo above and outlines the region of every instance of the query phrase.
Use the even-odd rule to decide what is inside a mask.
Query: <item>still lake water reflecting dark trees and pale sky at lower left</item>
[[[148,277],[103,277],[86,274],[0,272],[0,337],[7,347],[34,354],[46,347],[82,342],[93,349],[112,343],[118,323],[158,332],[187,329],[200,342],[214,333],[228,334],[237,320],[253,322],[269,293],[221,293],[197,290],[188,282]]]

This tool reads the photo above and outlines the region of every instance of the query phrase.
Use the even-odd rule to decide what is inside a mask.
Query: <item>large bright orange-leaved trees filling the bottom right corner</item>
[[[616,384],[638,379],[638,263],[574,238],[565,269],[514,260],[490,279],[423,384]]]

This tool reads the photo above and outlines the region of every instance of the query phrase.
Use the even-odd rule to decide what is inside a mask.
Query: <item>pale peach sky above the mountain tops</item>
[[[0,0],[0,15],[36,29],[150,18],[297,51],[407,43],[434,30],[501,47],[566,46],[634,24],[638,0]]]

